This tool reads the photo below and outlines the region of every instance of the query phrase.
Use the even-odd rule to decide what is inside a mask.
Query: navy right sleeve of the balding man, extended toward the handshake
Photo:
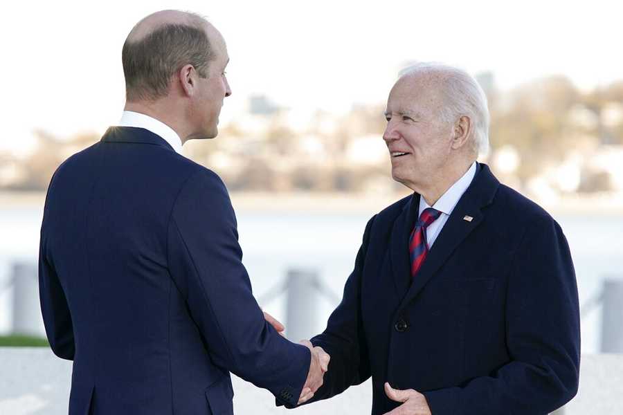
[[[311,353],[265,322],[242,265],[236,227],[220,178],[209,170],[191,176],[170,217],[170,273],[215,364],[294,405]]]

